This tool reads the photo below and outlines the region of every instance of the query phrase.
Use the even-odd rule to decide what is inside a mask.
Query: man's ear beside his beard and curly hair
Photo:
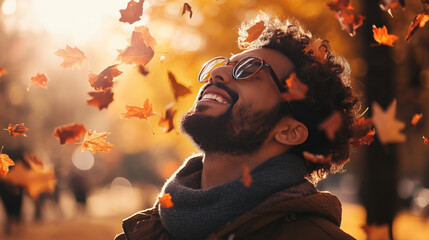
[[[280,120],[274,133],[274,139],[278,143],[289,146],[299,145],[305,142],[307,137],[307,127],[303,123],[291,117],[284,117],[282,120]]]

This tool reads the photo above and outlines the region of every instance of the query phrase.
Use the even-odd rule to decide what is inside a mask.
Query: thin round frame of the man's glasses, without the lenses
[[[259,60],[259,61],[260,61],[260,63],[261,63],[261,66],[258,68],[258,70],[256,70],[254,73],[250,74],[249,76],[241,77],[241,78],[240,78],[240,77],[237,77],[237,76],[236,76],[236,75],[237,75],[237,73],[236,73],[236,71],[237,71],[237,66],[240,66],[240,64],[241,64],[241,63],[243,63],[244,61],[248,60],[249,58],[254,58],[254,59]],[[208,80],[201,80],[201,78],[202,78],[202,74],[203,74],[203,70],[206,68],[206,66],[207,66],[209,63],[211,63],[211,62],[213,62],[213,61],[215,61],[215,60],[218,60],[218,59],[223,59],[223,60],[225,60],[225,63],[224,63],[223,65],[221,65],[221,66],[218,66],[218,67],[223,67],[223,66],[228,66],[228,65],[233,65],[233,64],[234,64],[234,62],[232,62],[232,61],[231,61],[229,58],[227,58],[227,57],[222,57],[222,56],[221,56],[221,57],[215,57],[215,58],[212,58],[212,59],[210,59],[209,61],[207,61],[206,63],[204,63],[203,67],[201,68],[200,73],[198,74],[198,82],[204,83],[204,82],[207,82],[207,81],[208,81]],[[218,67],[215,67],[215,68],[218,68]],[[215,69],[215,68],[213,68],[213,69]],[[268,63],[266,63],[266,62],[264,61],[264,59],[262,59],[262,58],[260,58],[260,57],[249,56],[249,57],[242,58],[240,61],[238,61],[238,62],[235,64],[234,68],[232,69],[232,77],[233,77],[234,79],[245,80],[245,79],[248,79],[248,78],[250,78],[250,77],[254,76],[254,75],[255,75],[255,74],[257,74],[259,71],[261,71],[263,68],[267,68],[267,69],[268,69],[268,73],[271,75],[271,78],[273,79],[274,83],[276,84],[276,86],[278,87],[278,89],[280,90],[280,92],[285,92],[285,91],[286,91],[286,87],[285,87],[285,85],[284,85],[284,84],[282,84],[282,82],[280,81],[280,79],[277,77],[277,75],[276,75],[276,73],[274,72],[274,70],[273,70],[273,68],[271,67],[271,65],[270,65],[270,64],[268,64]],[[211,72],[213,71],[213,69],[211,69],[211,70],[208,72],[208,74],[211,74]]]

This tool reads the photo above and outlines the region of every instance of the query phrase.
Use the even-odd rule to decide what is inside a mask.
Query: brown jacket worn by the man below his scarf
[[[159,218],[157,207],[138,212],[124,220],[124,233],[115,240],[170,239]],[[207,240],[354,239],[339,228],[340,222],[338,198],[304,183],[273,195]]]

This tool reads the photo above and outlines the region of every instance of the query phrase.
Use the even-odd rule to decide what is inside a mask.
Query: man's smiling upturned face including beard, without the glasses
[[[266,48],[234,55],[233,64],[214,68],[193,109],[182,120],[183,131],[205,152],[256,151],[282,117],[281,92],[267,67],[248,79],[234,79],[235,64],[246,57],[264,59],[281,80],[293,71],[293,63],[286,56]]]

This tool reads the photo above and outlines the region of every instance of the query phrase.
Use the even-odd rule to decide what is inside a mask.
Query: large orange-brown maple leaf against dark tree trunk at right
[[[407,137],[400,132],[405,127],[405,124],[395,119],[396,100],[393,100],[386,111],[383,111],[377,102],[373,102],[372,111],[372,121],[381,143],[399,143],[407,139]]]

